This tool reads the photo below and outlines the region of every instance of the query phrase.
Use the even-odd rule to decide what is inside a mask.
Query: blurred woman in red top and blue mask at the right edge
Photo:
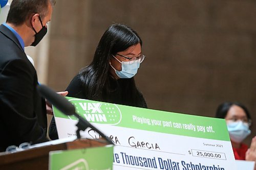
[[[256,137],[252,138],[250,149],[242,142],[251,133],[251,116],[247,108],[240,103],[225,102],[218,107],[216,117],[226,120],[234,158],[256,161]]]

